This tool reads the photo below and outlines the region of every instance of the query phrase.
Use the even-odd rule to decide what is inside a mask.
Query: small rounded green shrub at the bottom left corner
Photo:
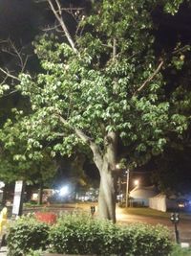
[[[26,256],[30,249],[45,249],[49,244],[49,229],[49,225],[32,216],[13,221],[7,238],[8,255]]]

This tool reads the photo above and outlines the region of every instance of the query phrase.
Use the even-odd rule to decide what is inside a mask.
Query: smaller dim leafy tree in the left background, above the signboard
[[[16,152],[13,149],[11,151],[1,150],[0,180],[6,184],[11,184],[16,180],[24,180],[27,185],[37,186],[39,188],[38,199],[41,204],[43,188],[52,184],[57,166],[47,152],[42,152],[41,157],[35,160],[27,157],[20,158],[19,151],[24,151],[24,148],[21,147],[21,144],[19,147],[20,149]]]

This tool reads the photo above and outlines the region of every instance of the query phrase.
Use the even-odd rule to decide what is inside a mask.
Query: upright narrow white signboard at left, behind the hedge
[[[12,214],[20,215],[22,209],[23,180],[15,182]]]

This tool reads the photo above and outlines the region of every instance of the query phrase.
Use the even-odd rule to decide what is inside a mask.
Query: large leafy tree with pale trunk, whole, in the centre
[[[187,128],[187,116],[171,111],[164,95],[161,70],[171,56],[155,54],[152,19],[157,8],[175,13],[182,1],[102,0],[88,14],[71,9],[80,19],[76,35],[64,20],[69,10],[59,0],[47,2],[64,36],[44,35],[34,44],[42,72],[19,76],[16,88],[29,97],[32,111],[17,112],[17,136],[28,139],[31,158],[45,140],[53,155],[89,154],[100,175],[99,216],[116,221],[118,145],[125,145],[133,168],[162,151],[169,130]],[[173,51],[179,63],[180,50]],[[9,136],[1,136],[6,147],[15,139],[9,122],[2,130]]]

